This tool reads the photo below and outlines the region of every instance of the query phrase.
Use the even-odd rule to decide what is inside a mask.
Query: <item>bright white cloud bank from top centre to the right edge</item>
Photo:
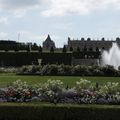
[[[108,8],[120,9],[120,0],[51,0],[50,6],[42,12],[42,15],[86,15],[94,10],[103,10]]]

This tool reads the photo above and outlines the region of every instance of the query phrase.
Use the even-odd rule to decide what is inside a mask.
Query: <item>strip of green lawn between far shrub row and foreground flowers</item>
[[[75,77],[75,76],[18,76],[15,74],[1,74],[0,75],[0,86],[6,86],[10,83],[12,83],[15,80],[22,80],[26,81],[29,84],[35,84],[38,82],[44,83],[48,79],[51,80],[61,80],[64,82],[65,86],[72,87],[75,85],[76,81],[80,80],[80,78],[85,78],[87,80],[90,80],[92,82],[98,82],[100,84],[104,84],[106,82],[119,82],[120,83],[120,77]]]

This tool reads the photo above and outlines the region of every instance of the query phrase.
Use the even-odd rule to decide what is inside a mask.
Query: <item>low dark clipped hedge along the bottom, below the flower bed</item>
[[[120,120],[120,106],[2,103],[0,120]]]

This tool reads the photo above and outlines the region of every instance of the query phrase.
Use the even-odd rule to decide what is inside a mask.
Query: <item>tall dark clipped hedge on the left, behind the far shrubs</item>
[[[38,64],[71,64],[71,53],[40,53],[40,52],[0,52],[0,66],[22,66]]]

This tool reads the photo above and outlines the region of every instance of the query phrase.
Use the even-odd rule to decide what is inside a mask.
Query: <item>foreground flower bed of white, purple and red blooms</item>
[[[73,104],[120,104],[119,83],[105,85],[80,79],[72,88],[63,87],[60,80],[48,80],[44,84],[29,85],[17,80],[0,89],[1,102],[51,102]]]

